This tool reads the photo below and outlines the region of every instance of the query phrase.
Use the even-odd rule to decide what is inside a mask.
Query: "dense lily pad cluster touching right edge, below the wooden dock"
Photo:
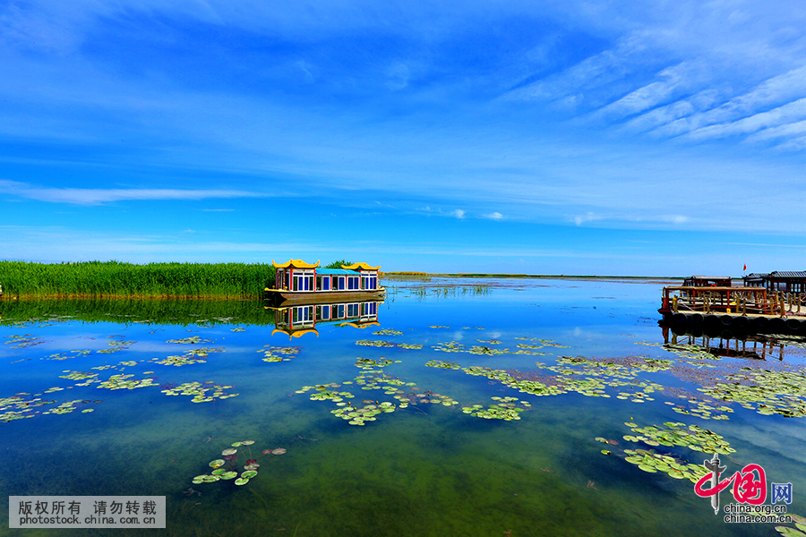
[[[781,414],[788,418],[806,416],[806,369],[769,371],[742,368],[727,382],[698,388],[708,396],[733,401],[760,414]]]

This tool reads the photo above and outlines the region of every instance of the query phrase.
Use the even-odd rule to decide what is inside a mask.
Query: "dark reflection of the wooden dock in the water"
[[[802,359],[806,339],[785,335],[734,334],[730,330],[681,330],[661,326],[665,348],[699,350],[725,358],[783,361],[788,352]]]

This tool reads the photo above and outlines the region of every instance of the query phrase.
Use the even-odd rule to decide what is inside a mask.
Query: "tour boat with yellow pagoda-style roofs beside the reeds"
[[[271,261],[275,268],[274,287],[264,289],[265,298],[275,303],[328,303],[382,301],[386,289],[380,285],[379,267],[366,263],[320,268],[319,261]]]

